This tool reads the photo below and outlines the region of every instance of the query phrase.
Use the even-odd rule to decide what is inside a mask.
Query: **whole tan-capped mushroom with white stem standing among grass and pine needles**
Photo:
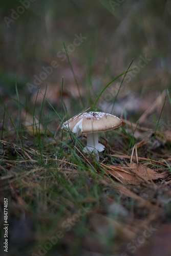
[[[121,120],[111,114],[102,112],[84,112],[74,116],[62,125],[62,130],[77,134],[79,131],[82,134],[87,134],[87,146],[83,152],[101,152],[104,150],[104,145],[98,142],[98,132],[109,131],[118,128],[121,125]]]

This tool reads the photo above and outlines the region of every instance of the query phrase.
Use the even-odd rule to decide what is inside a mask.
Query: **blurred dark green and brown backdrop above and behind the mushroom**
[[[123,115],[124,110],[139,117],[170,88],[170,1],[32,2],[1,2],[0,92],[5,100],[15,95],[15,80],[23,102],[34,103],[37,89],[44,93],[48,85],[47,97],[60,111],[63,77],[63,100],[69,112],[78,113],[83,106],[92,106],[104,86],[125,72],[133,59],[134,70],[123,81],[114,113]],[[75,35],[83,37],[80,45]],[[61,55],[65,54],[63,43],[79,92],[69,62]],[[58,67],[35,86],[34,76],[39,77],[45,71],[42,67],[51,66],[52,61]],[[103,93],[99,110],[111,111],[122,78]],[[34,88],[29,90],[28,83]],[[167,101],[165,121],[170,113]],[[162,103],[158,116],[161,108]]]

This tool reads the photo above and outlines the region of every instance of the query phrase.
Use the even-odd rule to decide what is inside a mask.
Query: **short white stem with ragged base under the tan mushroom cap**
[[[87,134],[87,146],[84,147],[83,152],[101,152],[104,150],[104,146],[98,142],[97,133],[88,133]]]

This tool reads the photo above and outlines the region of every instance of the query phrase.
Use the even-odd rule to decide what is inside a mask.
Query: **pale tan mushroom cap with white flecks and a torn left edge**
[[[111,114],[102,112],[85,112],[74,116],[62,125],[62,130],[72,133],[97,133],[113,130],[121,125],[121,120]]]

